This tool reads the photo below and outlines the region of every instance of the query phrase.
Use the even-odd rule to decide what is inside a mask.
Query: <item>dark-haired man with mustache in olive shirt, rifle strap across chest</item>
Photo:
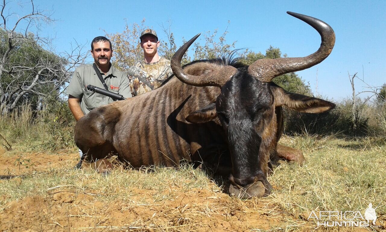
[[[91,55],[103,80],[105,80],[108,90],[121,94],[125,98],[131,97],[127,74],[117,70],[110,63],[113,55],[111,42],[103,36],[94,38],[91,42]],[[94,85],[104,89],[102,82],[93,68],[93,64],[81,65],[76,68],[67,88],[68,106],[76,121],[94,108],[107,105],[114,101],[110,97],[88,90],[87,85]],[[85,131],[85,133],[86,132],[87,131]],[[79,152],[82,157],[80,150]]]

